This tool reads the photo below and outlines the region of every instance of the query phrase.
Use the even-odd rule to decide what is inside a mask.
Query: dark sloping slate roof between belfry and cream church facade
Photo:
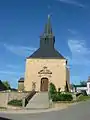
[[[31,56],[28,58],[57,58],[57,59],[65,59],[55,48],[53,49],[41,49],[36,50]]]

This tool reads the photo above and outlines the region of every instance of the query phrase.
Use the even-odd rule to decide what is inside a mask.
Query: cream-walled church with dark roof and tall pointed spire
[[[52,31],[51,17],[48,15],[39,48],[26,58],[24,91],[48,91],[50,83],[56,89],[65,91],[70,85],[70,73],[67,60],[55,49],[55,36]]]

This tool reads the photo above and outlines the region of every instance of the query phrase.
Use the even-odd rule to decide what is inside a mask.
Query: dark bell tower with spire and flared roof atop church
[[[48,20],[45,24],[44,32],[40,36],[39,48],[28,58],[54,58],[54,59],[65,59],[55,49],[55,36],[52,31],[51,15],[48,15]]]

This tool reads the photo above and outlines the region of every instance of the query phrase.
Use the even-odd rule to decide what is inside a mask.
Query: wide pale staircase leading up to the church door
[[[26,105],[27,109],[45,109],[49,108],[48,92],[36,93]]]

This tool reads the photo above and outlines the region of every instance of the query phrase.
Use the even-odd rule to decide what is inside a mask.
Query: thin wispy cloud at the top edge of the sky
[[[85,5],[79,3],[76,0],[58,0],[58,1],[65,3],[65,4],[72,4],[72,5],[75,5],[77,7],[85,8]]]

